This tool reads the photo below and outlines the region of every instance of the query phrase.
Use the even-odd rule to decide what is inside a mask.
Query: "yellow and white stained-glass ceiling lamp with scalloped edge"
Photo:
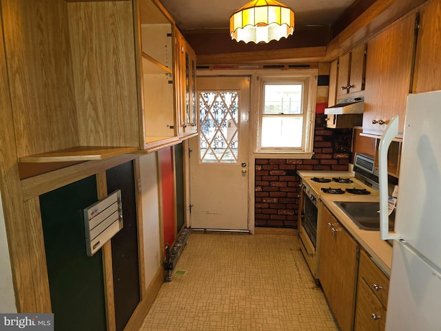
[[[275,0],[253,0],[229,19],[229,32],[236,41],[268,43],[294,33],[294,12]]]

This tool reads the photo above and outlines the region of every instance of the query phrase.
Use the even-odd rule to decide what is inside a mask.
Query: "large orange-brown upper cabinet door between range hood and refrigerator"
[[[385,124],[400,115],[402,134],[415,43],[416,14],[399,19],[369,40],[363,133],[382,134]]]

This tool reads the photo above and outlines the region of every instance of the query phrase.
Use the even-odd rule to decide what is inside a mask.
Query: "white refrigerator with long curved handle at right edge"
[[[393,241],[386,330],[441,331],[441,91],[409,94],[394,232],[388,228],[387,150],[379,146],[380,233]]]

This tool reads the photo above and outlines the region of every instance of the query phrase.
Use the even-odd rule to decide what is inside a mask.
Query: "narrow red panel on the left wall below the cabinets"
[[[158,151],[161,164],[161,182],[163,189],[164,245],[174,243],[174,185],[173,185],[173,148]]]

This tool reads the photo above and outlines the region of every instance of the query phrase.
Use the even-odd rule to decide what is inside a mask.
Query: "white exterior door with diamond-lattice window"
[[[192,228],[249,230],[249,77],[198,77],[189,139]]]

